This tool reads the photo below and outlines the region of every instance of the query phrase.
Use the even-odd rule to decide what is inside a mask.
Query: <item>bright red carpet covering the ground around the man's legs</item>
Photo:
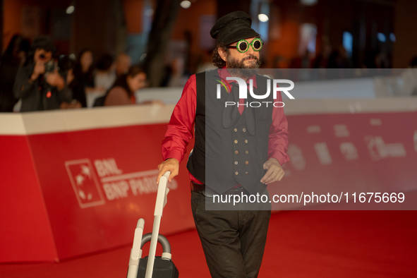
[[[273,214],[259,277],[417,277],[416,219],[416,211]],[[167,238],[181,278],[210,277],[195,230]],[[130,249],[59,263],[0,265],[0,277],[126,277]]]

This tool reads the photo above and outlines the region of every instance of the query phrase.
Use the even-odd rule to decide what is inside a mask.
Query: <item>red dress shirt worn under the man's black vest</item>
[[[219,70],[219,76],[226,80],[229,73],[225,70]],[[229,85],[234,85],[234,80],[229,80]],[[248,79],[249,83],[249,79]],[[256,80],[253,80],[253,86],[256,87]],[[197,109],[197,85],[195,75],[191,75],[179,102],[176,104],[168,124],[165,139],[162,141],[162,158],[175,158],[179,162],[183,160],[188,142],[193,138],[193,128],[195,122],[195,111]],[[239,103],[243,104],[246,99],[240,99]],[[282,102],[281,92],[277,93],[275,102]],[[239,105],[238,110],[242,114],[244,106]],[[274,107],[272,109],[272,123],[270,127],[270,139],[268,142],[268,159],[275,158],[282,165],[289,161],[286,155],[288,145],[288,122],[284,114],[284,109]],[[198,179],[189,173],[191,181],[201,183]]]

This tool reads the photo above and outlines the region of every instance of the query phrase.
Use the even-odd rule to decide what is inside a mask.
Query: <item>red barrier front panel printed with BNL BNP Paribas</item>
[[[159,124],[29,136],[60,259],[130,243],[140,217],[145,232],[152,230],[166,129]],[[184,202],[188,183],[181,175],[169,185],[161,234],[193,227]]]

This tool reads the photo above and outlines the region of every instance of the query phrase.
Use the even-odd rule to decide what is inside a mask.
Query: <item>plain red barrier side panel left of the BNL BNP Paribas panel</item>
[[[0,262],[57,260],[28,138],[0,136]]]

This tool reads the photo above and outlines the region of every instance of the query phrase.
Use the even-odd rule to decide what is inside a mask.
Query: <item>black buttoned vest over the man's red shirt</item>
[[[206,76],[207,75],[207,76]],[[239,102],[233,92],[222,87],[221,98],[217,99],[217,69],[196,74],[197,109],[195,112],[195,145],[188,158],[188,171],[217,193],[224,193],[240,184],[249,193],[265,191],[260,179],[266,173],[263,164],[267,161],[268,141],[272,123],[272,92],[266,99],[253,99],[248,91],[248,107],[230,116],[231,107],[225,102]],[[257,75],[255,95],[265,95],[267,78]],[[233,90],[238,88],[233,85]],[[233,91],[232,90],[232,91]],[[271,84],[272,91],[272,84]],[[250,107],[250,102],[270,102],[267,107]],[[228,122],[229,121],[229,122]]]

